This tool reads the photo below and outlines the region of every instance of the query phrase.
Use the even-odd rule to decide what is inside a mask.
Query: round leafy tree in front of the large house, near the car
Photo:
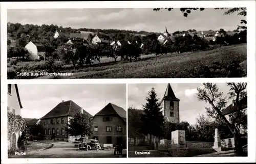
[[[93,134],[93,118],[84,113],[76,113],[69,121],[68,127],[65,127],[68,134],[72,136],[84,136]],[[82,141],[82,140],[81,140]]]

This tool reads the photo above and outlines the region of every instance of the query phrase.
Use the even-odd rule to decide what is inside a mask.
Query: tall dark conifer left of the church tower
[[[150,134],[150,144],[152,142],[152,135],[162,136],[163,126],[164,126],[164,117],[162,115],[161,104],[157,98],[155,89],[152,88],[148,92],[148,97],[146,97],[146,104],[142,105],[144,114],[141,117],[142,121],[142,133],[147,135]]]

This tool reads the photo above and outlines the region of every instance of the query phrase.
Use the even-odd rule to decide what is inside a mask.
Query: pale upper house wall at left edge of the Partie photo
[[[20,115],[20,105],[18,102],[18,96],[17,96],[17,92],[14,84],[11,85],[11,94],[8,93],[8,91],[7,91],[7,94],[8,94],[7,104],[8,104],[8,107],[10,108],[9,112],[12,113],[14,109],[15,115]]]

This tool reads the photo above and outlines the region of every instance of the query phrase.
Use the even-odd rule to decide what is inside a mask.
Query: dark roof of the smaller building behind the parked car
[[[105,107],[102,108],[95,116],[102,116],[102,115],[118,115],[126,122],[126,111],[113,103],[109,103]]]

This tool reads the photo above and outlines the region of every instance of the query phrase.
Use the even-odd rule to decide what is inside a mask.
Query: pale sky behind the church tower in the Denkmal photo
[[[175,96],[180,99],[180,122],[186,121],[190,125],[196,123],[196,118],[202,114],[206,116],[205,106],[210,107],[205,101],[198,101],[197,88],[203,88],[203,84],[170,84]],[[229,87],[226,83],[217,83],[219,91],[223,92],[223,96],[228,97]],[[145,98],[148,92],[154,87],[159,101],[164,96],[167,84],[129,84],[128,85],[128,107],[133,106],[142,109],[142,104],[146,103]],[[232,100],[229,100],[229,105]],[[213,121],[213,119],[212,119]]]

